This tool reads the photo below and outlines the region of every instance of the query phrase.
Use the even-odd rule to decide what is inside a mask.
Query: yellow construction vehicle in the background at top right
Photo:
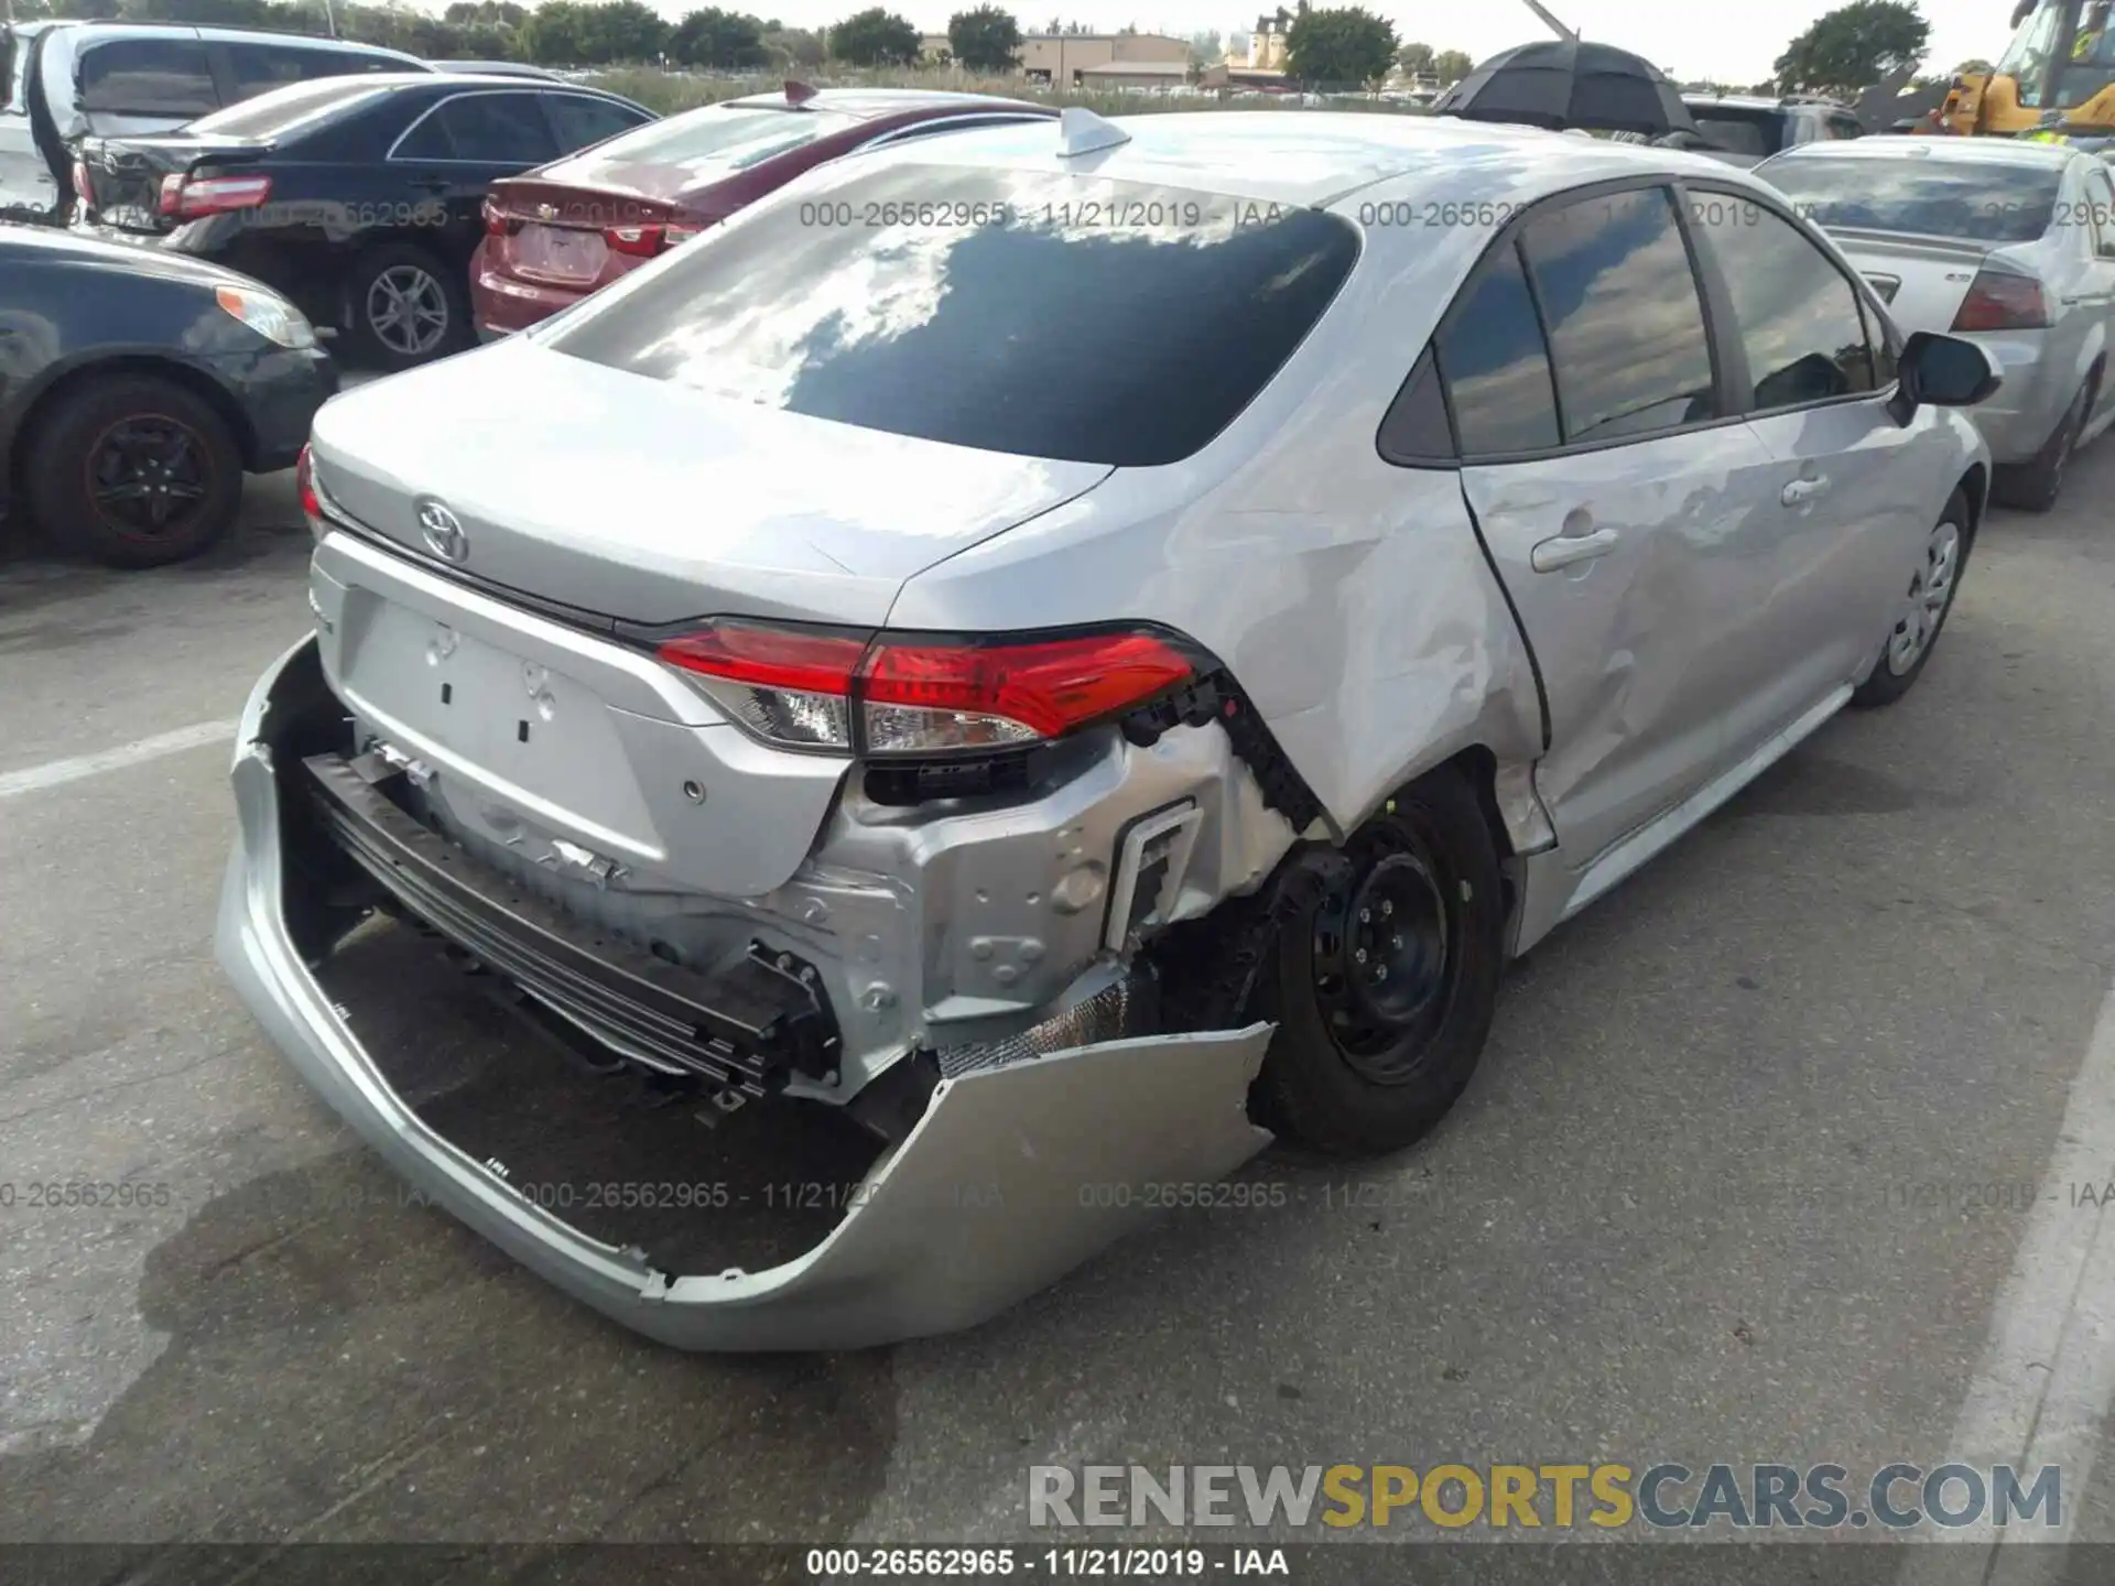
[[[1963,74],[1942,131],[1982,137],[2115,135],[2115,30],[2109,0],[2020,0],[2011,44],[1988,74]]]

